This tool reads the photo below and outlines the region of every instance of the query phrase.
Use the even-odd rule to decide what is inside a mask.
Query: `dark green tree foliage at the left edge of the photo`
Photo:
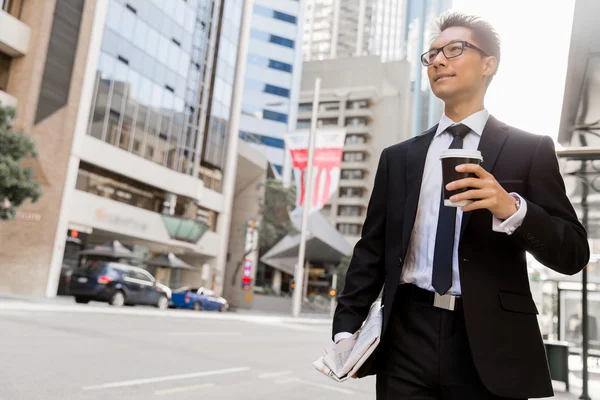
[[[11,130],[15,116],[13,108],[0,106],[0,220],[14,219],[27,199],[36,202],[42,195],[33,170],[21,165],[27,157],[37,158],[36,144],[29,135]]]

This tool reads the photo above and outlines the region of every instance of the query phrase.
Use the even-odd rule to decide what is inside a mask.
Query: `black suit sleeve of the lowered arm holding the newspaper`
[[[356,332],[383,286],[387,174],[386,150],[383,150],[361,239],[354,247],[344,289],[338,296],[333,317],[333,336],[339,332]]]

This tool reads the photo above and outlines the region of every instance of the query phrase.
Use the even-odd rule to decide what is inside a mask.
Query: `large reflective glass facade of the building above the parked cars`
[[[212,1],[135,4],[109,0],[88,134],[191,174]]]

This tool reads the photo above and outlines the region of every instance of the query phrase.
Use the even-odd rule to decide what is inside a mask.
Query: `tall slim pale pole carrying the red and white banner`
[[[306,254],[306,228],[308,225],[308,214],[310,214],[310,205],[312,202],[313,191],[313,157],[315,153],[315,136],[317,133],[317,113],[319,109],[319,92],[321,91],[321,78],[315,80],[315,94],[313,98],[312,119],[310,123],[310,132],[308,134],[308,160],[306,164],[306,180],[304,190],[304,201],[302,206],[302,225],[300,227],[300,249],[298,251],[298,262],[294,271],[294,294],[292,298],[292,316],[300,316],[302,308],[302,295],[304,288],[304,258]]]

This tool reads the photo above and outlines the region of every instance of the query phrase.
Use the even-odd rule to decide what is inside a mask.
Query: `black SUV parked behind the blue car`
[[[117,307],[145,304],[166,309],[171,289],[142,268],[98,260],[73,271],[69,294],[75,296],[77,303],[94,300]]]

